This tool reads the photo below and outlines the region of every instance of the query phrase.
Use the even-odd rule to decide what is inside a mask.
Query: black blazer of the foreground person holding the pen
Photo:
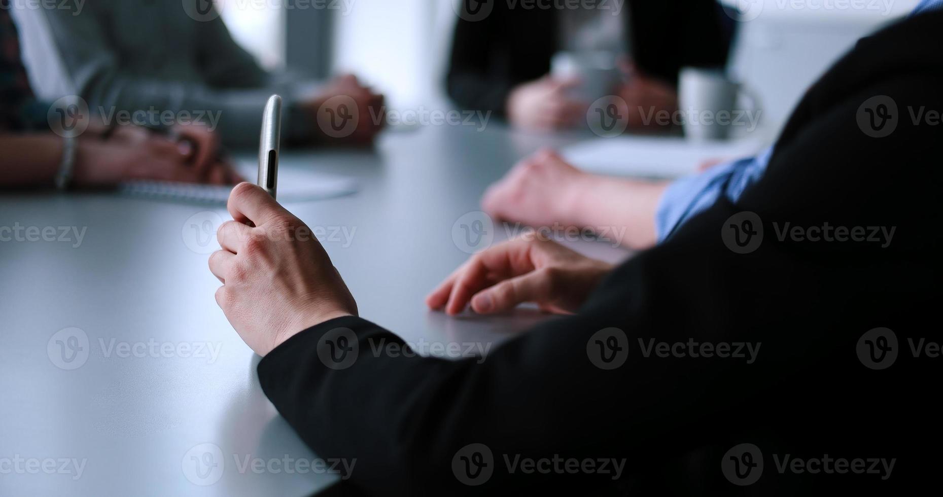
[[[319,456],[356,458],[345,487],[376,495],[895,495],[933,482],[943,462],[943,359],[920,344],[943,339],[943,126],[915,123],[911,112],[943,108],[941,29],[943,12],[928,13],[860,41],[807,92],[757,184],[621,265],[578,315],[541,323],[480,364],[374,356],[371,340],[401,341],[364,319],[341,318],[264,357],[262,389]],[[887,119],[897,126],[884,138],[866,133],[873,111],[862,106],[875,96],[896,106],[878,110],[885,120],[878,127]],[[739,254],[723,237],[744,211],[760,218],[753,229],[764,236]],[[789,235],[826,223],[861,226],[866,237],[871,226],[893,227],[894,236],[885,245]],[[360,352],[350,367],[333,370],[319,360],[319,341],[322,353],[338,346],[331,330],[340,327],[352,330],[348,345]],[[597,350],[594,335],[609,327],[624,333],[621,351]],[[879,371],[866,364],[885,364],[885,349],[870,349],[882,343],[865,334],[881,327],[894,332],[897,343],[887,344],[898,356]],[[753,363],[646,356],[649,340],[759,350]],[[620,367],[597,367],[617,352]],[[487,446],[491,458],[459,454],[472,443]],[[764,462],[745,487],[721,471],[740,443],[753,443],[762,453],[754,463]],[[511,472],[505,455],[614,457],[626,465],[616,480]],[[797,457],[824,456],[864,459],[865,471],[877,468],[870,458],[895,464],[886,479],[848,466],[845,473],[793,466]],[[490,468],[484,484],[460,483],[467,461],[472,470]]]

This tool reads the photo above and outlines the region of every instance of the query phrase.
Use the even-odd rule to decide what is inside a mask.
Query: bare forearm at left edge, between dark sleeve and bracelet
[[[52,187],[62,149],[51,133],[0,136],[0,187]]]

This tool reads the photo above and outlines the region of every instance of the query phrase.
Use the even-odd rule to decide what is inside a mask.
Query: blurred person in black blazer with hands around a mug
[[[732,19],[715,0],[576,3],[577,8],[551,0],[544,2],[549,7],[476,4],[483,3],[462,1],[448,94],[463,108],[490,110],[530,129],[585,122],[589,105],[605,94],[625,101],[630,129],[645,127],[650,111],[677,108],[682,67],[726,64],[733,32]],[[594,64],[602,58],[620,70],[621,81],[602,94],[574,94],[586,76],[552,74],[561,56],[591,58]]]

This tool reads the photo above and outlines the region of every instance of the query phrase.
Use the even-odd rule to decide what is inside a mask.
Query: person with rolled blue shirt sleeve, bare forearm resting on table
[[[913,15],[941,5],[943,0],[925,0]],[[755,157],[702,164],[699,173],[673,181],[646,181],[588,174],[544,150],[489,187],[482,208],[502,221],[586,227],[647,249],[718,201],[736,203],[766,173],[772,153],[769,147]]]

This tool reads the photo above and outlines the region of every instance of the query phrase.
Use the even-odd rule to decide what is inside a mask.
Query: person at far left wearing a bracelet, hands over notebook
[[[20,56],[9,0],[0,0],[0,188],[105,187],[129,179],[232,184],[241,178],[198,125],[174,136],[138,126],[90,125],[63,138],[50,130],[52,107],[37,100]],[[91,116],[76,116],[88,125]]]

